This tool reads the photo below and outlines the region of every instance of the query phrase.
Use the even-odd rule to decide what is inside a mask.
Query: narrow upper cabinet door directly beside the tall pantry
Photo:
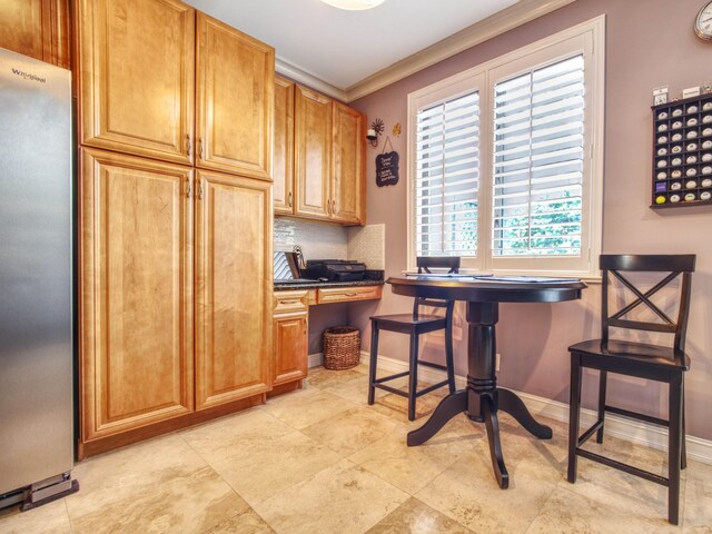
[[[273,178],[275,214],[294,212],[294,83],[275,77]]]

